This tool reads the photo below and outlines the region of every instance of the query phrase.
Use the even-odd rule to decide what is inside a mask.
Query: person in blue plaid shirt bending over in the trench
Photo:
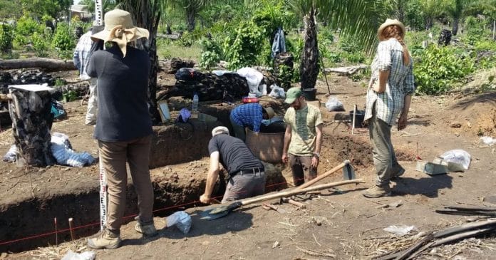
[[[234,136],[244,142],[246,140],[244,128],[249,128],[253,132],[260,132],[262,120],[272,118],[274,115],[272,108],[262,108],[259,103],[248,103],[234,108],[229,119],[234,129]]]

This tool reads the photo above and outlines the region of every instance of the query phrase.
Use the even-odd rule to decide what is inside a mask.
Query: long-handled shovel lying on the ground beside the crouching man
[[[306,187],[304,189],[301,188],[296,188],[296,189],[291,189],[286,192],[276,192],[273,194],[267,194],[262,197],[255,197],[252,199],[243,199],[243,200],[238,200],[235,202],[232,202],[231,204],[228,205],[220,205],[220,206],[213,206],[205,209],[203,212],[200,212],[200,219],[218,219],[220,217],[224,217],[230,212],[232,212],[234,209],[237,209],[241,206],[248,205],[248,204],[253,204],[257,202],[263,202],[268,199],[279,199],[281,197],[289,197],[291,195],[299,194],[299,193],[304,193],[304,192],[311,192],[314,190],[320,190],[320,189],[329,189],[330,187],[336,187],[340,185],[346,185],[346,184],[352,184],[352,183],[363,183],[363,180],[357,179],[357,180],[345,180],[341,182],[331,182],[331,183],[326,183],[326,184],[320,184],[317,186],[313,187]]]

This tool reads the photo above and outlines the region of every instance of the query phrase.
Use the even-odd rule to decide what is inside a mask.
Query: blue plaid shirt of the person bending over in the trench
[[[262,124],[262,105],[259,103],[248,103],[238,105],[231,111],[231,119],[237,125],[244,127],[251,126],[253,132],[260,132],[260,125]]]

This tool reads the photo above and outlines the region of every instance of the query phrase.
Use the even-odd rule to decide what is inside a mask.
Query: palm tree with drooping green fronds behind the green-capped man
[[[314,88],[319,75],[316,17],[331,28],[353,37],[355,43],[371,49],[378,26],[393,13],[393,0],[286,0],[304,18],[304,49],[301,54],[301,88]]]

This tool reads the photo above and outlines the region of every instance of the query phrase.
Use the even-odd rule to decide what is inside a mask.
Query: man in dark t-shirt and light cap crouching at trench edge
[[[210,196],[219,175],[219,162],[229,172],[229,183],[222,203],[264,194],[264,165],[254,157],[252,151],[242,140],[230,136],[227,128],[218,126],[212,130],[208,150],[210,170],[207,175],[205,193],[200,196],[200,202],[210,203]]]

